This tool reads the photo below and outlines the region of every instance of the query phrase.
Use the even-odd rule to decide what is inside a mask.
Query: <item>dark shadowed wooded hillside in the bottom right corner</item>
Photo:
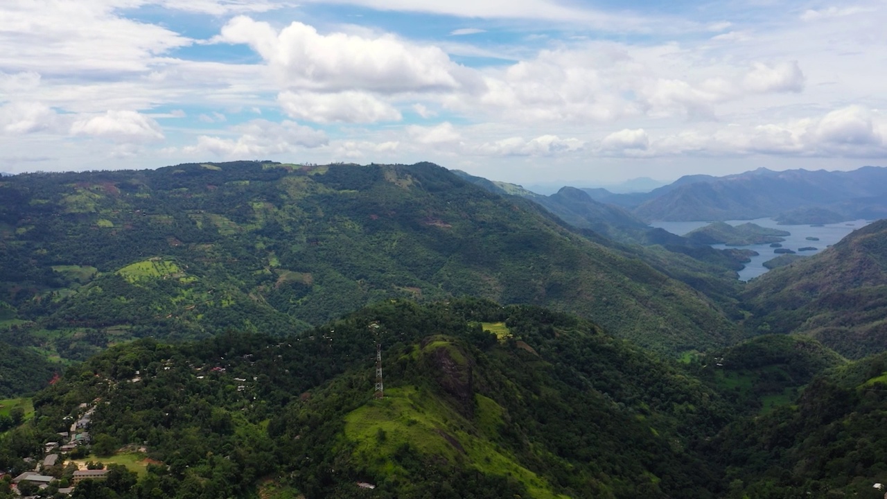
[[[711,441],[733,496],[865,497],[887,480],[887,356],[820,376],[794,404],[731,424]]]

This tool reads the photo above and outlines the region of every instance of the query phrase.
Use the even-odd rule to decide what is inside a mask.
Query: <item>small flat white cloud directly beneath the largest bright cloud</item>
[[[400,121],[394,107],[363,91],[318,93],[284,91],[278,103],[292,118],[314,123],[375,123]]]

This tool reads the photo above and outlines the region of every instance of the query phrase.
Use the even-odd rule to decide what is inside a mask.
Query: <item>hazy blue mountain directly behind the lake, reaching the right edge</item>
[[[634,208],[635,215],[671,221],[774,217],[801,224],[887,216],[887,168],[874,166],[852,171],[762,168],[726,177],[695,178],[677,188],[660,187],[657,191]],[[607,202],[616,200],[611,197]]]

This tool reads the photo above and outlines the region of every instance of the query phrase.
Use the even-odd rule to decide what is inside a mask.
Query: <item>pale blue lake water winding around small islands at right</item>
[[[781,242],[782,248],[791,249],[792,251],[796,251],[798,255],[804,255],[809,257],[811,255],[815,255],[819,253],[821,250],[826,249],[828,246],[835,244],[838,241],[844,239],[844,236],[853,232],[853,230],[858,229],[863,226],[867,226],[871,222],[868,220],[851,220],[848,222],[841,222],[840,224],[826,224],[821,227],[814,226],[781,226],[776,223],[773,218],[757,218],[757,220],[727,220],[726,223],[731,226],[738,226],[740,224],[745,224],[747,222],[751,222],[752,224],[757,224],[762,227],[771,227],[774,229],[780,229],[783,231],[788,231],[791,235],[785,236],[785,241]],[[698,229],[699,227],[707,226],[710,222],[653,222],[650,224],[654,227],[660,227],[671,234],[685,235],[688,232]],[[819,241],[808,241],[807,237],[818,237]],[[805,247],[813,247],[816,248],[815,251],[798,251],[799,248]],[[712,248],[724,249],[727,246],[724,244],[712,244]],[[751,244],[749,246],[731,246],[730,248],[742,248],[742,249],[754,249],[758,253],[760,253],[757,257],[751,257],[751,261],[745,264],[745,268],[739,271],[739,279],[740,281],[749,281],[752,278],[761,275],[762,273],[767,272],[767,268],[764,266],[764,262],[775,257],[778,257],[779,254],[773,253],[773,249],[770,244]]]

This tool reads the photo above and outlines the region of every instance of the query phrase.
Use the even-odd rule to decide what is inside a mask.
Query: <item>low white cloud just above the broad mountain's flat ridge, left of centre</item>
[[[256,157],[266,154],[293,153],[302,147],[326,146],[328,139],[323,131],[314,130],[291,121],[273,123],[253,120],[232,127],[239,134],[237,139],[201,135],[194,146],[184,147],[185,154],[215,154],[224,157]]]

